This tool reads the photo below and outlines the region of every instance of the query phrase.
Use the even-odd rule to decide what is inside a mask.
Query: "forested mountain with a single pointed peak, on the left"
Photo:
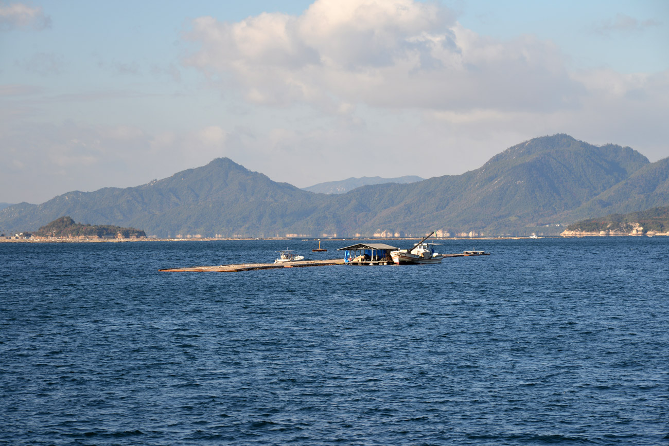
[[[142,228],[161,237],[273,236],[308,214],[314,198],[318,195],[218,158],[142,186],[68,192],[39,205],[10,206],[0,210],[0,227],[37,228],[68,215],[85,223]]]

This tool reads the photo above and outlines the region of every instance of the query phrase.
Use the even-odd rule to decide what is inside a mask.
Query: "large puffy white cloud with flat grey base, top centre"
[[[299,17],[200,17],[187,37],[188,64],[255,103],[545,111],[583,93],[552,43],[482,37],[436,3],[317,0]]]

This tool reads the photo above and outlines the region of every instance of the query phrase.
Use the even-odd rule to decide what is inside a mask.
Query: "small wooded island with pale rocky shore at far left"
[[[147,234],[139,229],[122,228],[110,224],[76,223],[68,216],[56,218],[35,232],[22,232],[17,236],[23,240],[137,240],[147,238]]]

